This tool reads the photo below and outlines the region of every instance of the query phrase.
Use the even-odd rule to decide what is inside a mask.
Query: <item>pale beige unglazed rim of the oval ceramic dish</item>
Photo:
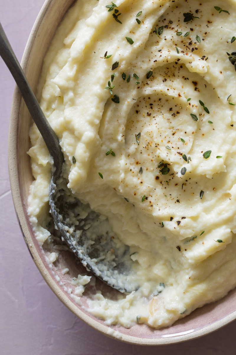
[[[42,9],[36,18],[35,24],[33,26],[33,29],[31,31],[31,34],[29,36],[27,45],[24,50],[24,54],[22,57],[22,62],[21,66],[23,69],[26,69],[27,72],[27,64],[28,64],[28,59],[29,59],[29,54],[31,51],[31,48],[34,44],[34,40],[36,37],[36,34],[40,28],[41,22],[45,16],[45,13],[48,10],[48,7],[50,5],[51,0],[46,0],[44,5],[42,6]],[[99,331],[100,333],[103,333],[107,335],[110,338],[117,339],[129,344],[134,344],[134,345],[168,345],[168,344],[175,344],[175,343],[180,343],[180,342],[186,342],[191,339],[196,339],[199,337],[202,337],[204,335],[207,335],[209,333],[212,333],[230,322],[234,321],[236,319],[236,311],[231,313],[229,316],[224,317],[223,319],[214,322],[213,324],[204,327],[202,329],[199,329],[197,331],[194,331],[192,333],[188,334],[183,334],[179,333],[179,335],[164,335],[162,338],[139,338],[139,337],[133,337],[132,335],[126,335],[119,333],[119,328],[116,328],[117,331],[115,331],[113,334],[109,334],[109,327],[94,321],[90,316],[86,315],[84,312],[82,312],[64,293],[63,291],[59,288],[58,284],[56,281],[53,279],[52,275],[47,271],[46,267],[44,266],[44,263],[42,262],[38,251],[36,250],[33,240],[31,239],[30,233],[28,231],[27,227],[27,220],[25,219],[24,212],[23,212],[23,206],[22,206],[22,201],[21,201],[21,195],[20,195],[20,190],[19,190],[19,179],[18,179],[18,172],[17,172],[17,161],[16,161],[16,146],[14,143],[14,137],[17,135],[17,118],[19,115],[19,108],[22,103],[22,97],[21,94],[19,93],[18,88],[15,88],[14,94],[13,94],[13,101],[12,101],[12,108],[11,108],[11,116],[10,116],[10,124],[9,124],[9,134],[8,134],[8,168],[9,168],[9,177],[10,177],[10,185],[11,185],[11,191],[12,191],[12,198],[13,198],[13,203],[15,206],[15,211],[17,215],[17,220],[19,223],[19,226],[21,228],[21,232],[23,234],[25,243],[27,244],[28,250],[30,252],[31,257],[33,258],[37,268],[39,269],[42,277],[45,279],[46,283],[48,286],[52,289],[54,294],[58,297],[59,300],[62,301],[62,303],[69,308],[70,311],[72,311],[77,317],[79,317],[82,321],[84,321],[86,324],[91,326],[93,329]],[[12,139],[13,137],[13,139]]]

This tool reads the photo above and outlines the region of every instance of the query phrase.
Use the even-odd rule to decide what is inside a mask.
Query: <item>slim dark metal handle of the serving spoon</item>
[[[39,103],[29,85],[29,82],[16,58],[15,53],[6,37],[4,29],[0,23],[0,56],[6,63],[8,69],[10,70],[15,82],[22,94],[25,104],[32,116],[36,126],[38,127],[48,151],[52,155],[54,165],[56,166],[56,171],[53,174],[56,178],[61,173],[62,164],[64,162],[61,147],[52,127],[48,123],[44,113],[39,106]]]

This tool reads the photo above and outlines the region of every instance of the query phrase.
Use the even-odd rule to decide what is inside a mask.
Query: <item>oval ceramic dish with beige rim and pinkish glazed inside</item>
[[[31,31],[24,51],[22,66],[35,91],[38,83],[42,61],[48,45],[69,7],[74,0],[48,0],[45,2]],[[61,250],[58,262],[52,265],[47,262],[45,254],[52,251],[52,246],[40,247],[29,223],[27,215],[27,200],[29,187],[33,180],[30,159],[27,151],[30,147],[29,128],[32,124],[27,108],[16,88],[9,130],[9,171],[13,202],[24,240],[28,250],[44,277],[48,286],[56,296],[81,320],[97,331],[109,337],[139,345],[163,345],[183,342],[211,333],[225,326],[236,318],[236,290],[231,291],[224,299],[213,304],[198,308],[189,316],[175,322],[169,328],[155,330],[148,326],[137,324],[126,329],[123,327],[108,327],[104,321],[97,319],[86,311],[86,301],[95,292],[95,287],[108,292],[108,286],[98,280],[96,286],[88,286],[88,291],[81,297],[82,305],[76,302],[70,294],[71,277],[77,276],[82,268],[81,263],[73,253]],[[67,267],[70,272],[63,274]],[[86,288],[87,289],[87,288]],[[113,291],[114,297],[116,291]]]

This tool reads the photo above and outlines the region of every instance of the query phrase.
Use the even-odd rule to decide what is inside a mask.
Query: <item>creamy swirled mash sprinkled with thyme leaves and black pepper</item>
[[[108,217],[140,284],[92,297],[107,324],[169,326],[236,286],[235,18],[235,0],[78,0],[46,55],[39,99],[68,188]],[[43,244],[51,160],[30,138]]]

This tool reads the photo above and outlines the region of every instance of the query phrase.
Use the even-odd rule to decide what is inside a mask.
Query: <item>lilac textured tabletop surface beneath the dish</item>
[[[0,21],[21,60],[44,0],[0,0]],[[94,331],[53,294],[36,268],[19,229],[7,169],[7,134],[15,83],[0,58],[0,355],[235,354],[236,322],[189,342],[129,345]]]

